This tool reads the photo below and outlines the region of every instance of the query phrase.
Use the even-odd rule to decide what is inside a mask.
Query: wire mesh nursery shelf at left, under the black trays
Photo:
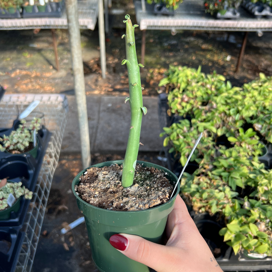
[[[68,103],[65,95],[7,94],[0,103],[0,127],[11,127],[18,112],[33,101],[40,101],[35,111],[44,113],[41,123],[52,133],[41,166],[33,199],[24,220],[22,232],[26,233],[19,255],[16,272],[31,271],[51,183],[58,164],[61,143],[67,121]]]

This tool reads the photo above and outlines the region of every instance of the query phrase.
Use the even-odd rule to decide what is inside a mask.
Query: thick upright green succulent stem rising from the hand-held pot
[[[143,114],[142,89],[140,78],[140,67],[138,66],[135,48],[134,27],[129,15],[126,15],[126,55],[129,77],[131,108],[131,125],[125,160],[123,162],[122,186],[130,187],[133,184],[135,166],[140,146],[140,132]]]

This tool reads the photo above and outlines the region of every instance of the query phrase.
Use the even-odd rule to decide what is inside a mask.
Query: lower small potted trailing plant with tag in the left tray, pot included
[[[17,212],[20,209],[21,196],[31,200],[32,194],[21,182],[0,180],[0,220],[8,219],[12,211]]]

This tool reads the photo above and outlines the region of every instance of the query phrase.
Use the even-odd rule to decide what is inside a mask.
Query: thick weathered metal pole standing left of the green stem
[[[75,93],[78,108],[80,140],[81,140],[81,158],[83,168],[90,166],[91,151],[89,126],[87,115],[87,103],[85,94],[85,82],[83,61],[81,52],[80,28],[78,19],[78,2],[77,0],[65,0],[68,30],[70,37],[71,57],[73,78],[75,81]]]

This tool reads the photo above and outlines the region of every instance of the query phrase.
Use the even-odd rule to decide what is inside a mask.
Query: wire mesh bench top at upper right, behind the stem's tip
[[[136,1],[136,19],[141,30],[272,31],[271,19],[255,19],[239,8],[240,18],[218,20],[205,13],[203,3],[184,0],[174,16],[163,16],[153,14],[153,6],[145,5],[144,0]]]

